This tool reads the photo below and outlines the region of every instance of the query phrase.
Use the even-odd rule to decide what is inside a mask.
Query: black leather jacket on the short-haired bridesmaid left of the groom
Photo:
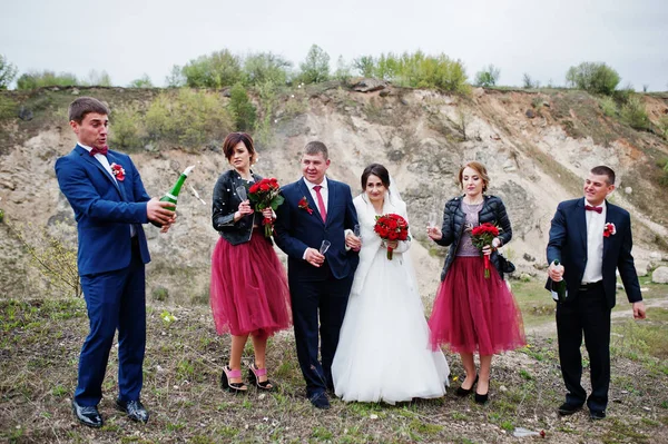
[[[253,171],[250,171],[250,175],[256,182],[262,180],[262,177]],[[242,217],[236,223],[234,221],[234,214],[239,209],[239,204],[242,203],[242,199],[236,194],[236,189],[240,185],[246,187],[246,191],[248,190],[248,182],[242,179],[242,176],[236,170],[229,169],[218,177],[214,187],[212,224],[214,225],[214,229],[232,245],[239,245],[250,240],[254,218],[257,218],[256,225],[262,224],[262,214],[257,211],[253,215]],[[272,243],[271,238],[266,239],[269,244]]]

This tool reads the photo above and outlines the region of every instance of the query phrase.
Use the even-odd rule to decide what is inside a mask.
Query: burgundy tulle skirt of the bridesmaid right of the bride
[[[482,257],[456,257],[439,287],[429,326],[435,349],[483,356],[525,345],[522,315],[508,286],[490,264],[484,277]]]

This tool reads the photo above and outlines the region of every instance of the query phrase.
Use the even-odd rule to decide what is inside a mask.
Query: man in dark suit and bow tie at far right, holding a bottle
[[[559,204],[548,244],[549,279],[566,279],[568,297],[557,305],[557,335],[561,375],[568,391],[561,415],[582,408],[592,420],[606,417],[610,386],[610,312],[616,303],[619,270],[633,317],[645,318],[645,304],[631,256],[629,213],[606,200],[615,190],[615,171],[606,166],[591,169],[584,181],[584,198]],[[554,259],[561,264],[554,265]],[[584,345],[591,367],[591,394],[580,384]]]

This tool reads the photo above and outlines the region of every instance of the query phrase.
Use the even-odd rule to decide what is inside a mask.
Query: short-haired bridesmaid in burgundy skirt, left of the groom
[[[212,310],[218,334],[232,335],[229,365],[223,369],[220,384],[234,393],[247,391],[242,354],[250,336],[255,362],[248,366],[249,382],[259,389],[272,389],[265,353],[267,338],[292,324],[287,277],[262,228],[263,217],[272,217],[272,209],[256,213],[246,199],[248,184],[262,179],[250,170],[256,156],[253,139],[245,132],[232,132],[223,151],[234,169],[216,182],[212,217],[220,234],[212,256]]]

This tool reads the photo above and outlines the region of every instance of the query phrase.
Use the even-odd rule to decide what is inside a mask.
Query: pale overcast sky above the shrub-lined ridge
[[[227,48],[302,62],[312,45],[350,62],[422,50],[460,59],[469,79],[492,63],[499,85],[564,85],[583,61],[606,62],[619,87],[668,90],[667,0],[0,0],[0,55],[31,70],[106,71],[156,86],[174,65]]]

